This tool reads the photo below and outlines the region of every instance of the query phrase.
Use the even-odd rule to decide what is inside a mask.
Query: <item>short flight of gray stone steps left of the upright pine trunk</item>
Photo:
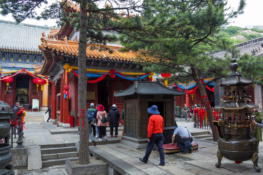
[[[66,159],[78,159],[75,143],[40,145],[40,147],[43,167],[65,164]]]

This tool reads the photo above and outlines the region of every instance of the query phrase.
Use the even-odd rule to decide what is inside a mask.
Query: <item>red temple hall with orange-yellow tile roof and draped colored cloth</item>
[[[79,8],[68,3],[65,8],[68,12],[77,12]],[[58,30],[51,30],[50,34],[42,35],[39,49],[45,56],[42,68],[35,72],[50,76],[52,84],[52,121],[58,126],[67,128],[69,116],[73,116],[74,125],[77,125],[77,89],[78,89],[78,40],[79,33],[67,23]],[[109,112],[115,104],[121,113],[124,108],[124,98],[114,97],[114,91],[129,88],[136,77],[147,80],[147,73],[142,72],[142,66],[135,64],[135,53],[118,51],[121,46],[109,43],[105,46],[112,50],[91,49],[86,50],[87,67],[87,108],[91,103],[101,104]],[[68,86],[68,90],[65,89]],[[69,93],[64,95],[64,90]],[[123,123],[123,121],[121,121]],[[71,123],[72,124],[72,123]]]

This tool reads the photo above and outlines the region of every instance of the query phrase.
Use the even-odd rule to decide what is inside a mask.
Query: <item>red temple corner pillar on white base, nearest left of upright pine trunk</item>
[[[64,86],[66,85],[65,83],[65,73],[66,71],[64,71],[64,76],[63,76],[63,86],[61,86],[61,88],[63,89],[61,91],[61,96],[63,98],[63,124],[62,124],[62,128],[70,128],[70,123],[69,123],[69,99],[65,99],[64,98]],[[61,84],[62,85],[62,84]]]

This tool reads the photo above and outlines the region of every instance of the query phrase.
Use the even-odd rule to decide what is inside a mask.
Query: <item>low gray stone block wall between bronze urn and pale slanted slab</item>
[[[27,148],[13,148],[10,153],[13,155],[12,164],[14,167],[27,166]]]

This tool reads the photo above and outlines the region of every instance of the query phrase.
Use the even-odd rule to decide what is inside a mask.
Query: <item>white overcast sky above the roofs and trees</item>
[[[53,0],[54,1],[54,0]],[[236,9],[238,6],[239,0],[228,0],[228,5],[231,8]],[[247,25],[263,25],[262,19],[262,8],[263,8],[263,0],[246,0],[246,6],[244,8],[244,14],[239,15],[237,18],[234,18],[229,21],[229,25],[239,26],[244,28]],[[15,21],[11,15],[8,16],[0,16],[2,20]],[[47,26],[56,26],[56,20],[48,19],[48,20],[34,20],[34,19],[26,19],[22,23],[25,24],[33,24],[33,25],[47,25]]]

